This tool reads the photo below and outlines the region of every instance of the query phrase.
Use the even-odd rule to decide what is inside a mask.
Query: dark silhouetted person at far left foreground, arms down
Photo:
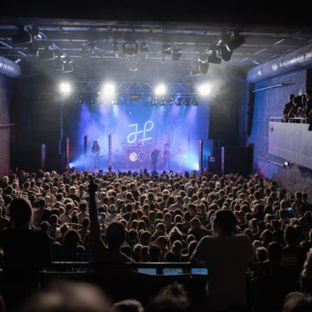
[[[0,247],[4,251],[2,294],[11,307],[38,287],[38,271],[50,264],[51,251],[48,235],[30,229],[32,210],[27,199],[13,199],[9,212],[11,228],[0,232]]]

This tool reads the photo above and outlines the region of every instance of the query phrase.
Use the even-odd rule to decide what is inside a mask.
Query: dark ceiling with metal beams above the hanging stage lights
[[[93,60],[94,62],[101,60],[124,62],[123,43],[136,42],[140,45],[146,40],[149,50],[148,52],[139,50],[139,62],[163,63],[165,57],[165,62],[181,62],[189,66],[203,52],[216,48],[221,34],[230,29],[238,30],[245,38],[245,43],[234,50],[228,63],[247,71],[250,67],[312,42],[312,28],[308,25],[311,19],[306,18],[306,11],[302,9],[296,13],[289,7],[283,11],[283,8],[278,6],[271,10],[255,12],[252,11],[255,9],[254,4],[240,9],[241,7],[236,3],[235,6],[233,4],[228,6],[226,11],[218,11],[220,8],[206,11],[205,16],[204,10],[199,8],[196,14],[191,6],[188,13],[188,10],[177,9],[177,3],[173,1],[168,4],[169,10],[162,9],[163,14],[159,14],[158,21],[152,21],[157,19],[160,8],[157,7],[156,10],[146,13],[146,6],[155,5],[155,2],[152,4],[144,2],[144,4],[145,9],[121,4],[122,10],[106,9],[101,14],[96,8],[92,12],[89,7],[82,8],[79,14],[77,8],[71,11],[67,7],[66,11],[61,9],[57,11],[54,6],[50,11],[32,13],[44,18],[27,17],[30,14],[27,10],[23,14],[20,12],[23,7],[19,7],[13,13],[4,10],[4,13],[11,13],[11,16],[20,14],[19,16],[26,17],[1,18],[0,55],[13,61],[36,60],[32,44],[12,42],[12,36],[18,33],[18,26],[30,26],[29,29],[33,29],[33,33],[38,34],[35,37],[37,43],[35,50],[44,50],[48,43],[52,50],[55,50],[56,55],[67,57],[73,64],[85,62],[86,59],[88,62]],[[262,6],[265,4],[262,3]],[[215,14],[217,11],[218,14]],[[279,15],[277,11],[280,12]],[[138,16],[139,13],[144,14]],[[106,19],[97,19],[99,15]],[[49,16],[53,18],[48,18]],[[65,16],[70,18],[64,18]],[[72,18],[74,16],[76,18]],[[85,17],[93,19],[83,19]],[[123,21],[124,18],[127,18],[127,21]],[[146,21],[147,19],[150,21]],[[291,25],[293,23],[296,25]],[[165,43],[169,43],[171,51],[176,48],[181,49],[182,55],[179,60],[172,60],[172,53],[165,56],[162,54]],[[117,44],[119,48],[114,50],[113,47]]]

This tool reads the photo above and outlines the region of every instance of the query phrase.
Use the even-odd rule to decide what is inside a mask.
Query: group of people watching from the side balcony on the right
[[[312,90],[306,90],[302,96],[289,96],[285,104],[282,121],[288,122],[289,118],[301,118],[301,123],[312,123]]]

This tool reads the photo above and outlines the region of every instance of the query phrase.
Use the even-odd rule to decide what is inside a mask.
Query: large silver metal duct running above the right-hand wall
[[[258,65],[247,73],[247,82],[254,83],[312,65],[312,43]]]

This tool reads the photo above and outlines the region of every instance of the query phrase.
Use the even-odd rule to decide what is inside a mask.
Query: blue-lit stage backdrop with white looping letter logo
[[[210,143],[207,139],[209,120],[208,101],[199,101],[199,106],[152,106],[147,100],[123,99],[119,105],[113,104],[75,104],[71,110],[72,152],[70,162],[84,169],[84,136],[88,136],[88,154],[91,145],[97,140],[101,148],[100,167],[108,167],[108,135],[112,135],[113,169],[144,169],[143,162],[131,162],[129,153],[133,150],[138,136],[144,144],[146,153],[156,145],[162,150],[169,136],[169,148],[172,152],[170,168],[180,167],[184,171],[199,169],[199,140],[204,140],[204,155],[210,155]],[[187,138],[189,136],[189,158],[187,159]],[[144,152],[143,152],[144,157]],[[146,157],[145,157],[146,158]],[[89,157],[88,169],[93,160]],[[162,168],[157,168],[161,170]]]

